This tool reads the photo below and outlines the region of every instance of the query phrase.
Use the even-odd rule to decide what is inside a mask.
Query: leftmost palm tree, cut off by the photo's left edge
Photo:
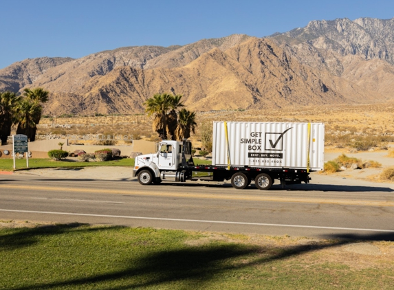
[[[11,135],[11,127],[16,122],[20,100],[19,96],[10,91],[0,94],[0,144],[5,144],[8,136]]]

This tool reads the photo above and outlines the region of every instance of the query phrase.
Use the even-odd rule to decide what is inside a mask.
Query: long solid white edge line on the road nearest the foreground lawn
[[[107,214],[76,214],[73,212],[38,212],[34,210],[3,210],[1,212],[29,212],[32,214],[64,214],[69,216],[96,216],[96,217],[107,217],[107,218],[118,218],[118,219],[148,219],[153,221],[186,221],[195,223],[225,223],[231,225],[264,225],[270,227],[305,227],[311,229],[325,229],[325,230],[349,230],[349,231],[363,231],[363,232],[394,232],[394,230],[375,230],[375,229],[357,229],[353,227],[319,227],[317,225],[281,225],[276,223],[244,223],[239,221],[204,221],[199,219],[166,219],[166,218],[154,218],[145,216],[113,216]]]

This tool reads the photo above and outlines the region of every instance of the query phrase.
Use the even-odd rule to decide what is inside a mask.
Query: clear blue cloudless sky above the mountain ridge
[[[391,19],[393,0],[0,0],[0,69],[25,58],[267,36],[311,20]]]

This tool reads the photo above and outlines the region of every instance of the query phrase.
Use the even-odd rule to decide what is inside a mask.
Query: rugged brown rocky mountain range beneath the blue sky
[[[267,38],[233,34],[0,69],[0,91],[44,87],[45,112],[140,113],[157,92],[189,109],[261,109],[393,100],[394,19],[311,21]]]

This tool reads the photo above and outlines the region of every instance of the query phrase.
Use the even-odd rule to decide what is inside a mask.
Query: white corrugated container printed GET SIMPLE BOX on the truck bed
[[[321,123],[214,122],[212,165],[322,170],[324,139]]]

